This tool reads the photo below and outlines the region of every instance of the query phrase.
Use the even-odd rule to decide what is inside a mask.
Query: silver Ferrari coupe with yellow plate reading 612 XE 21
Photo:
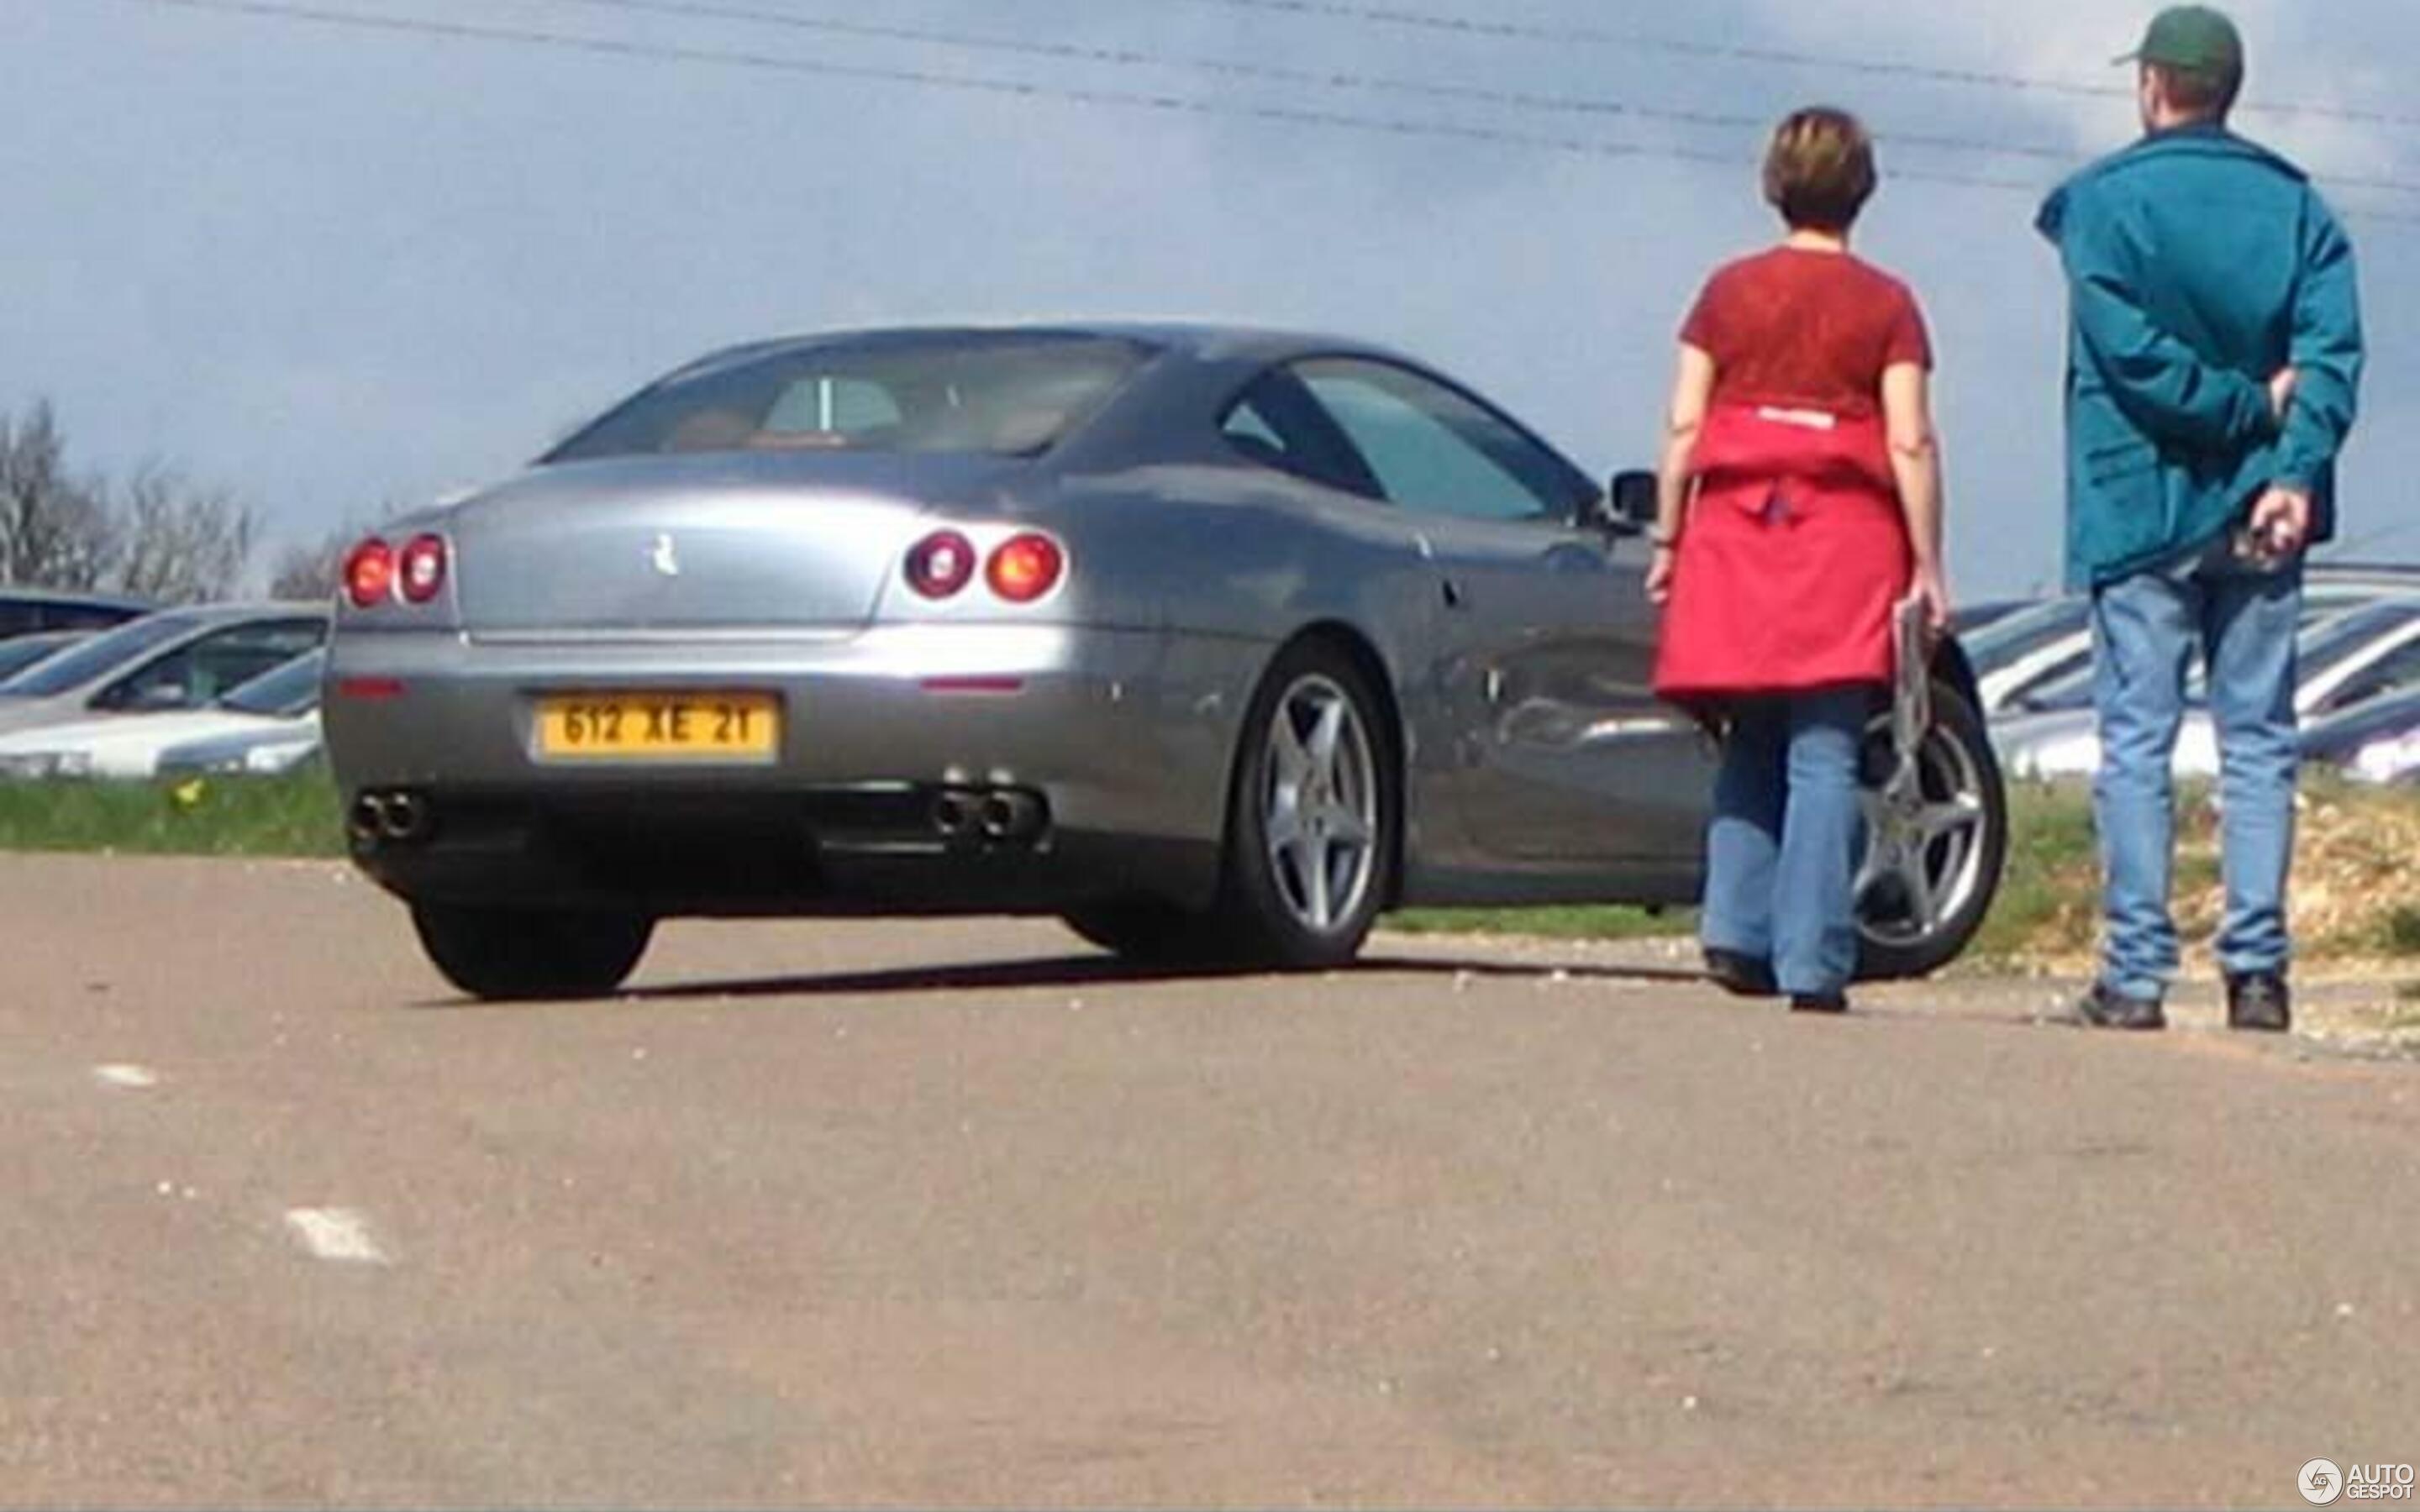
[[[1711,735],[1648,687],[1641,484],[1319,336],[721,351],[353,549],[353,856],[479,997],[612,989],[680,914],[1304,968],[1394,905],[1692,902]],[[1919,760],[1876,721],[1868,975],[1999,883],[1955,646],[1936,685]]]

